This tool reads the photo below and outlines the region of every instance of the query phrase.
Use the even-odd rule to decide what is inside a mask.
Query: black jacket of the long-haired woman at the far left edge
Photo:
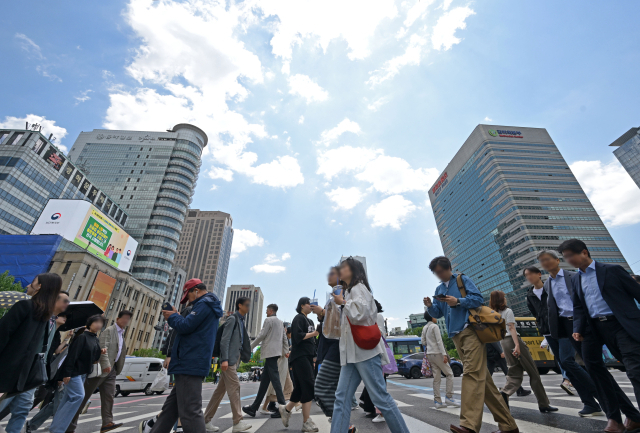
[[[17,302],[0,319],[0,392],[22,391],[48,323],[35,320],[31,299]]]

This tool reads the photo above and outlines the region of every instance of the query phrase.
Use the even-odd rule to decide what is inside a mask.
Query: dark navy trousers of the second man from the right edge
[[[571,340],[568,338],[556,339],[551,336],[546,338],[551,351],[557,357],[560,368],[567,373],[571,384],[578,392],[582,404],[584,404],[585,408],[600,411],[600,405],[595,399],[596,386],[589,373],[576,362],[574,357],[575,349],[571,344]]]

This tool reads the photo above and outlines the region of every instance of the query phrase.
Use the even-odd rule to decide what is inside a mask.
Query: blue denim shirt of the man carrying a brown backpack
[[[431,317],[438,319],[444,316],[449,337],[453,337],[464,329],[465,323],[469,321],[469,308],[478,308],[484,302],[480,290],[473,284],[471,278],[466,275],[462,275],[462,282],[467,291],[467,296],[462,298],[460,290],[458,290],[458,284],[456,284],[457,276],[458,274],[453,274],[448,284],[441,283],[436,287],[435,295],[455,296],[460,300],[460,306],[450,307],[446,302],[433,299],[433,305],[427,309]]]

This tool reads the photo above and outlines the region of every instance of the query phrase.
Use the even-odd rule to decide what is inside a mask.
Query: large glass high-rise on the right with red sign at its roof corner
[[[486,301],[505,292],[516,316],[530,315],[523,268],[566,239],[631,270],[546,129],[478,125],[429,199],[454,272],[468,275]]]

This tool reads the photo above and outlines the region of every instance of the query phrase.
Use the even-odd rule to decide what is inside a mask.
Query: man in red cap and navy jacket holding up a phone
[[[206,433],[202,415],[202,381],[209,373],[222,307],[218,297],[207,292],[207,286],[197,278],[184,285],[180,303],[187,301],[193,308],[186,317],[178,314],[175,307],[162,311],[176,332],[169,364],[169,374],[175,375],[175,384],[158,419],[143,421],[143,430],[153,425],[152,433],[169,433],[178,418],[184,431]]]

